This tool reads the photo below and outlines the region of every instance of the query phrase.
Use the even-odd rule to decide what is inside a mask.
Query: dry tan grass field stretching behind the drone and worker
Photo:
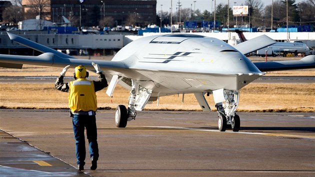
[[[107,59],[104,57],[97,59]],[[62,68],[23,65],[23,69],[0,68],[1,76],[54,76]],[[66,76],[71,76],[69,69]],[[92,75],[92,74],[91,74]],[[315,75],[315,69],[278,71],[267,75]],[[240,101],[237,111],[315,111],[315,83],[250,83],[240,90]],[[113,97],[105,94],[105,89],[97,92],[98,107],[115,108],[118,104],[126,105],[129,90],[117,86]],[[201,110],[193,94],[160,97],[147,104],[145,109],[164,110]],[[212,110],[212,95],[206,97]],[[67,108],[67,93],[54,89],[51,83],[38,82],[5,82],[0,83],[0,107],[2,108]]]

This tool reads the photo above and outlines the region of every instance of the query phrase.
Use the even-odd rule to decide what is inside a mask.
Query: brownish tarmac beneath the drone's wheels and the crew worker
[[[10,150],[1,146],[0,173],[9,168],[9,176],[20,176],[20,169],[42,171],[40,176],[62,172],[72,176],[315,176],[314,112],[238,115],[239,132],[219,132],[216,112],[140,111],[126,128],[116,128],[114,110],[99,110],[98,167],[89,170],[86,158],[88,170],[73,173],[76,159],[68,110],[0,109],[0,129],[39,149],[41,158],[36,160],[51,165],[18,161],[17,155],[35,153],[30,145],[15,151],[14,146]],[[0,143],[16,140],[7,137],[0,131]]]

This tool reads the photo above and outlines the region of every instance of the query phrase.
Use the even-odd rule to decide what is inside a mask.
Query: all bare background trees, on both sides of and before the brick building
[[[21,0],[12,0],[13,5],[6,8],[5,12],[2,13],[3,21],[10,23],[17,23],[18,21],[35,18],[44,19],[46,16],[50,16],[50,13],[44,13],[45,9],[50,8],[47,4],[49,0],[32,0],[30,9],[26,13],[23,12],[21,7]],[[286,19],[286,3],[288,6],[287,19]],[[282,27],[286,25],[315,25],[315,0],[303,0],[296,3],[295,0],[273,0],[273,5],[269,4],[264,6],[261,0],[245,0],[243,4],[248,5],[248,16],[235,17],[232,14],[232,5],[220,3],[215,7],[215,20],[220,21],[221,27],[238,27],[249,26],[249,18],[251,27],[271,27],[271,11],[272,11],[272,28]],[[177,8],[176,8],[177,9]],[[214,9],[214,7],[213,7]],[[228,13],[227,13],[228,11]],[[180,13],[180,14],[179,14]],[[229,15],[227,15],[229,14]],[[125,24],[135,23],[135,14],[130,14],[125,20]],[[74,25],[78,23],[75,16],[72,16]],[[108,24],[114,25],[113,18],[105,16],[104,19],[95,18],[94,25],[106,26]],[[112,21],[111,21],[112,20]],[[204,10],[201,12],[199,9],[195,11],[192,8],[180,8],[172,12],[172,23],[184,21],[213,21],[214,10]],[[156,14],[157,25],[169,25],[170,24],[170,12],[169,11],[157,11]],[[229,26],[227,26],[229,25]]]

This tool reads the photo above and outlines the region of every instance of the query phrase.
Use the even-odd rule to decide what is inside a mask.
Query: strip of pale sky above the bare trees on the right
[[[156,12],[160,11],[161,7],[162,7],[163,11],[164,10],[169,11],[170,0],[156,0],[156,1],[157,1]],[[205,9],[208,11],[214,10],[214,0],[213,1],[212,0],[179,0],[179,1],[181,4],[181,8],[190,8],[191,4],[192,4],[192,10],[194,8],[199,9],[201,12],[204,11]],[[193,2],[193,1],[196,1],[196,2]],[[272,0],[261,0],[261,1],[262,1],[264,6],[269,5],[272,2]],[[273,1],[275,1],[275,0],[273,0]],[[296,3],[301,2],[301,1],[303,1],[303,0],[295,0]],[[241,4],[245,3],[245,0],[229,0],[229,5],[233,6],[234,2],[236,2],[235,3],[236,5],[241,5]],[[172,0],[172,3],[173,3],[172,4],[172,8],[173,8],[172,11],[175,11],[176,7],[178,7],[178,6],[176,6],[178,4],[178,0]],[[216,0],[215,3],[216,3],[216,5],[218,5],[219,3],[227,4],[227,0]],[[194,7],[194,5],[195,5],[195,7]]]

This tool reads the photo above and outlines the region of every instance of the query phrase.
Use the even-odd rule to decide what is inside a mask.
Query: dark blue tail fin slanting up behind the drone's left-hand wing
[[[15,35],[15,34],[10,33],[10,32],[6,32],[6,33],[7,33],[7,35],[9,36],[9,38],[11,40],[13,40],[13,41],[15,41],[15,42],[17,42],[17,43],[19,43],[21,45],[24,45],[24,46],[27,46],[29,48],[32,48],[34,50],[37,50],[37,51],[40,51],[40,52],[43,52],[43,53],[45,53],[45,52],[54,53],[57,56],[60,56],[62,58],[75,58],[73,56],[67,55],[67,54],[62,53],[60,51],[57,51],[55,49],[49,48],[49,47],[47,47],[45,45],[42,45],[42,44],[36,43],[34,41],[28,40],[28,39],[26,39],[24,37],[21,37],[19,35]]]

